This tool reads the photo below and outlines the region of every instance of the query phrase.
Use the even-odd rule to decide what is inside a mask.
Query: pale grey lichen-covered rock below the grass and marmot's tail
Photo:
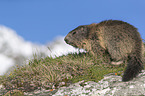
[[[0,86],[2,95],[3,87]],[[68,87],[51,90],[35,90],[24,93],[33,96],[144,96],[145,95],[145,70],[129,82],[122,82],[121,76],[111,73],[104,76],[98,83],[93,81],[80,81]]]

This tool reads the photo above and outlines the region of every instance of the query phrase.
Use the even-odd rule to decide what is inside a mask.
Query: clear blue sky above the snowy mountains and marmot
[[[38,44],[108,19],[134,25],[145,39],[144,18],[145,0],[0,0],[0,25]]]

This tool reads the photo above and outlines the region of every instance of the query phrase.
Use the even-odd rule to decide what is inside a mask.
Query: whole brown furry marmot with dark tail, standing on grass
[[[107,52],[112,64],[119,65],[127,59],[123,81],[133,79],[143,69],[143,42],[137,28],[129,23],[106,20],[79,26],[65,37],[65,41],[74,47],[86,49],[94,56]]]

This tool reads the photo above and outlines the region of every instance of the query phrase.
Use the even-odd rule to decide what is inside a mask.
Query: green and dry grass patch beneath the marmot
[[[17,89],[23,92],[41,88],[53,89],[80,80],[98,82],[109,73],[121,75],[125,67],[126,64],[110,65],[104,59],[88,53],[68,54],[57,58],[34,58],[29,64],[16,66],[10,74],[0,76],[0,84],[7,90]]]

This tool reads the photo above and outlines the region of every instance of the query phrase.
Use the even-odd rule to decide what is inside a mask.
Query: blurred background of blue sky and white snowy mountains
[[[0,75],[16,64],[77,52],[63,38],[79,25],[116,19],[145,39],[145,0],[0,0]]]

